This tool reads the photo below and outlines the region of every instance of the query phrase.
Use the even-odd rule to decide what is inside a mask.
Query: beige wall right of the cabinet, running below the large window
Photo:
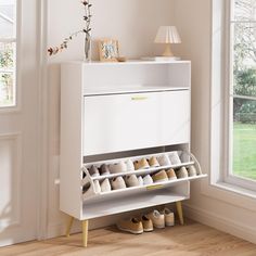
[[[180,55],[192,61],[192,152],[209,174],[210,141],[210,0],[176,0],[175,23],[182,44]],[[214,161],[214,159],[213,159]],[[256,200],[208,184],[192,185],[185,213],[206,225],[256,243]]]

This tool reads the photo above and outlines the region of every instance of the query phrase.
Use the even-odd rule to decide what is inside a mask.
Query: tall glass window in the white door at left
[[[16,104],[16,1],[0,0],[0,107]]]

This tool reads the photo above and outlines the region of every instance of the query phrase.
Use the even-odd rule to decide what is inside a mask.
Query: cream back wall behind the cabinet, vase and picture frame
[[[159,25],[172,24],[174,0],[91,0],[93,38],[111,37],[119,40],[120,53],[129,59],[154,55],[161,47],[153,43]],[[57,46],[71,33],[82,25],[80,0],[48,1],[48,46]],[[93,57],[98,54],[94,48]],[[55,235],[63,230],[64,215],[59,212],[60,155],[60,63],[82,60],[82,36],[75,38],[68,50],[49,57],[49,200],[48,234]],[[111,221],[111,220],[108,220]],[[95,226],[107,220],[95,220]]]

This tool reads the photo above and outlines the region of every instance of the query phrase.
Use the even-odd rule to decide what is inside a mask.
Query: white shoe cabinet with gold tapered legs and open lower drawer
[[[62,64],[61,69],[60,207],[82,221],[87,245],[88,220],[97,217],[177,202],[190,197],[190,181],[205,177],[190,153],[191,63],[142,62]],[[194,165],[197,175],[152,185],[97,193],[82,169],[91,165],[187,152],[177,166],[162,166],[98,177],[154,174],[169,167]],[[82,193],[82,187],[91,184]]]

